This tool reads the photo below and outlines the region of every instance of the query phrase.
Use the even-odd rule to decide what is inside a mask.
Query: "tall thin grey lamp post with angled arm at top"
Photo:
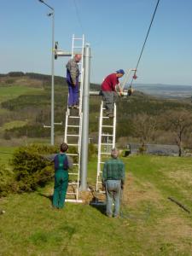
[[[51,125],[50,125],[50,144],[54,145],[54,58],[55,58],[55,9],[45,3],[44,0],[38,0],[40,3],[44,3],[51,13],[48,16],[52,16],[52,55],[51,55]]]

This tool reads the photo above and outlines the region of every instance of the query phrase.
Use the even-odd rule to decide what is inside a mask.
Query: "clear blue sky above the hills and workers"
[[[91,47],[91,82],[135,67],[156,0],[47,0],[55,40],[71,49],[73,33]],[[79,15],[77,15],[77,9]],[[38,0],[0,0],[0,73],[50,73],[51,19]],[[80,20],[80,23],[79,23]],[[192,1],[160,0],[138,67],[137,83],[192,85]],[[55,61],[64,76],[67,58]]]

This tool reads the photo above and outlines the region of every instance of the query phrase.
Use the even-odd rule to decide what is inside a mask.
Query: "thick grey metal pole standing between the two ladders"
[[[80,189],[87,189],[87,164],[89,146],[89,97],[90,97],[90,45],[84,47],[84,89],[83,89],[83,122],[81,140],[81,178]]]

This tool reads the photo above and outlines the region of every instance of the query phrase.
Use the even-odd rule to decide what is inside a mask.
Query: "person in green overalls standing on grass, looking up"
[[[53,195],[53,207],[61,209],[64,207],[67,187],[68,187],[68,169],[72,163],[65,152],[68,149],[67,143],[62,143],[60,153],[55,155],[55,186]]]

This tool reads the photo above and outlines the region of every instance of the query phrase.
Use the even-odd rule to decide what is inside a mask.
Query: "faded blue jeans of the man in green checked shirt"
[[[113,214],[112,206],[114,202],[114,216],[118,216],[119,210],[120,210],[121,181],[107,180],[106,193],[107,193],[107,209],[106,209],[107,215],[112,216]]]

